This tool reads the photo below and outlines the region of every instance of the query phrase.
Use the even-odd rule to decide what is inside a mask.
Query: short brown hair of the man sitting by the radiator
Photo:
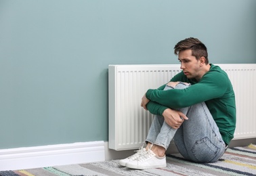
[[[209,64],[207,47],[201,41],[193,37],[179,41],[174,47],[174,53],[177,55],[187,49],[191,49],[192,56],[196,57],[196,60],[205,57],[205,64]]]

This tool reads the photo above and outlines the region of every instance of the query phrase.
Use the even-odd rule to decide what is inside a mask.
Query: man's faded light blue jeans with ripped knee
[[[186,89],[188,86],[179,83],[174,89]],[[167,89],[173,87],[166,86],[165,90]],[[221,158],[226,144],[205,102],[178,110],[186,114],[188,120],[185,120],[179,129],[173,129],[165,123],[163,116],[155,115],[146,143],[150,142],[167,150],[173,139],[179,153],[188,160],[216,162]]]

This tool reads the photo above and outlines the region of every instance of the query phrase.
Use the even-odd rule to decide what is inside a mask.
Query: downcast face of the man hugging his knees
[[[181,62],[180,68],[188,79],[200,80],[200,60],[196,60],[196,57],[192,56],[191,49],[180,51],[178,60]]]

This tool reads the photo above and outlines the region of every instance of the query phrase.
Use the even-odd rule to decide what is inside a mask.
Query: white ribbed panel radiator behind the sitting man
[[[256,64],[216,64],[230,77],[236,94],[234,139],[256,137]],[[140,107],[148,89],[156,89],[180,72],[179,65],[108,66],[108,142],[114,150],[140,148],[153,115]]]

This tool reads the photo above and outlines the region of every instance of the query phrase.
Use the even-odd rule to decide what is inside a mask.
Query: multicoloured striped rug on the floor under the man
[[[118,162],[119,160],[111,160],[20,171],[0,171],[0,175],[256,175],[256,145],[229,148],[220,160],[207,164],[190,162],[179,154],[167,156],[167,167],[163,169],[128,169],[121,167]]]

